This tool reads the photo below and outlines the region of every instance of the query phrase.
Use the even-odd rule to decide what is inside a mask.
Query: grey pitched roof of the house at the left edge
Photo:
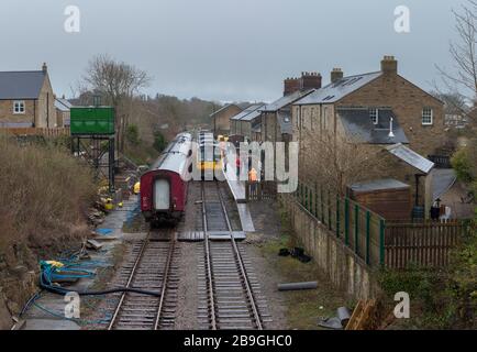
[[[43,70],[0,72],[0,99],[37,99],[45,77]]]

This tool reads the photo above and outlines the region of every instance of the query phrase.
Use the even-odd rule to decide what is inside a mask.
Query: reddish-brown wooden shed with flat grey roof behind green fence
[[[397,179],[376,179],[348,187],[351,199],[362,204],[387,220],[411,218],[411,186]]]

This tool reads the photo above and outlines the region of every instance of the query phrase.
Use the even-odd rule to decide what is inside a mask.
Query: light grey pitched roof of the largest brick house
[[[295,102],[297,106],[336,102],[381,76],[381,72],[344,77]]]

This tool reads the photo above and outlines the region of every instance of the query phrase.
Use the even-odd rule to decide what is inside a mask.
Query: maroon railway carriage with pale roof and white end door
[[[191,147],[191,134],[178,134],[141,176],[141,211],[147,222],[177,221],[185,212]]]

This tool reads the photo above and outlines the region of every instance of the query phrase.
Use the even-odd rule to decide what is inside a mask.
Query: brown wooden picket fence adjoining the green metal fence
[[[469,230],[462,220],[443,222],[386,222],[385,264],[391,268],[409,265],[443,267],[451,252]]]

